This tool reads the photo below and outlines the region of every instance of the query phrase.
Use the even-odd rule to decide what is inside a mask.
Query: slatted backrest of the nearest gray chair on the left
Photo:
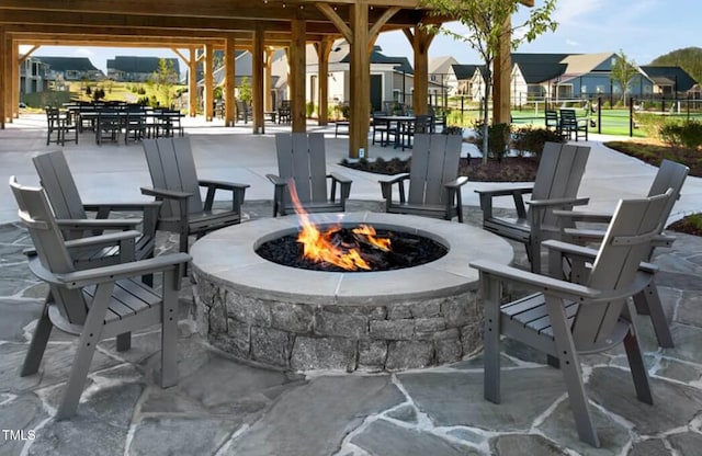
[[[44,190],[22,186],[14,176],[10,179],[10,187],[20,208],[20,220],[30,231],[42,265],[54,274],[75,271]],[[71,323],[82,324],[87,316],[82,293],[56,285],[50,289],[61,314]]]

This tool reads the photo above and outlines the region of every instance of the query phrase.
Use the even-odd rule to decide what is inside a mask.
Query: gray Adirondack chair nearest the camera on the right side
[[[557,360],[581,441],[599,446],[582,384],[579,355],[623,343],[638,400],[653,404],[629,298],[641,292],[648,272],[639,264],[660,232],[670,193],[620,202],[585,284],[574,284],[491,263],[471,263],[480,271],[485,301],[485,398],[500,402],[500,335],[518,340]],[[568,255],[571,244],[550,240],[552,253]],[[577,250],[578,246],[574,246]],[[642,277],[643,276],[643,277]],[[501,287],[536,292],[501,305]]]

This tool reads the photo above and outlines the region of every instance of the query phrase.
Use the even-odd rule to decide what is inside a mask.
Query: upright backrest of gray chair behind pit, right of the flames
[[[415,135],[407,197],[410,204],[445,203],[443,185],[458,175],[461,145],[461,135]]]

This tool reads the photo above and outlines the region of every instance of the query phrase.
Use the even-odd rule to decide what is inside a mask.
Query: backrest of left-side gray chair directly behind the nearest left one
[[[41,153],[32,158],[32,161],[42,186],[46,190],[56,218],[86,218],[83,203],[64,152],[55,150]]]

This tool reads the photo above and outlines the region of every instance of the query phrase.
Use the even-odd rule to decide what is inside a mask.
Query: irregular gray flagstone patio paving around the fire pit
[[[251,218],[269,216],[270,203],[247,202],[247,208]],[[466,207],[468,223],[477,214]],[[592,448],[577,437],[561,373],[523,345],[503,344],[501,404],[483,399],[479,353],[395,374],[301,375],[238,362],[208,345],[191,315],[188,287],[181,293],[179,384],[158,386],[157,328],[134,334],[127,352],[103,341],[78,415],[56,422],[50,415],[75,338],[54,331],[39,373],[19,377],[46,287],[26,269],[22,230],[0,225],[0,272],[8,277],[0,277],[0,426],[35,431],[34,440],[0,438],[0,455],[694,455],[702,447],[702,239],[678,240],[658,263],[676,347],[658,349],[648,317],[636,318],[655,404],[636,400],[622,350],[584,358],[602,442]],[[171,237],[159,242],[160,251],[172,249]],[[523,249],[514,247],[523,262]]]

